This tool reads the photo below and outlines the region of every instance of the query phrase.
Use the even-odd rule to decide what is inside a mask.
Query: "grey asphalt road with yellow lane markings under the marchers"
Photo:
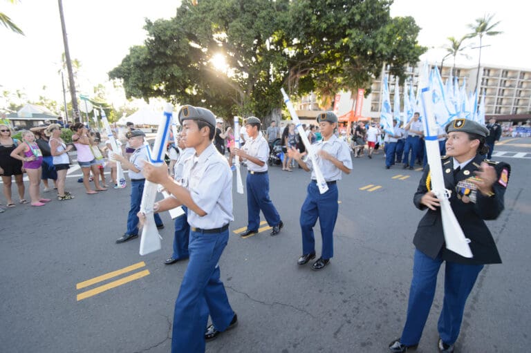
[[[505,211],[488,225],[503,264],[481,272],[458,352],[527,352],[531,344],[531,139],[505,139],[495,155],[501,152],[493,159],[512,164],[512,175]],[[412,203],[421,172],[386,170],[381,153],[353,164],[339,183],[335,255],[319,272],[296,264],[310,175],[270,169],[270,195],[285,227],[276,237],[232,233],[220,266],[239,326],[207,343],[207,352],[386,352],[400,336],[411,240],[423,214]],[[75,200],[17,204],[0,214],[0,352],[169,352],[187,266],[162,263],[173,241],[169,215],[162,215],[162,251],[140,256],[138,239],[114,242],[125,231],[129,189],[85,195],[78,173],[67,179]],[[235,190],[231,232],[247,220],[245,195]],[[317,239],[318,255],[320,245]],[[436,352],[442,282],[419,353]]]

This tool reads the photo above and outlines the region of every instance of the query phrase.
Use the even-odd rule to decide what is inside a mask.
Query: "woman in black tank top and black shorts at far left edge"
[[[24,180],[22,175],[22,162],[16,158],[11,157],[11,152],[14,151],[20,141],[11,137],[11,128],[9,125],[0,124],[0,175],[3,182],[3,195],[6,197],[6,206],[15,207],[11,195],[12,176],[15,176],[15,183],[19,191],[19,202],[27,204],[24,200]]]

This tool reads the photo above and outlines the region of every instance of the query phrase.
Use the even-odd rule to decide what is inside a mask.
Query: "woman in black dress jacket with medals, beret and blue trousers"
[[[443,163],[445,187],[451,192],[451,209],[469,238],[472,258],[464,258],[445,247],[440,204],[431,192],[430,173],[425,171],[413,196],[418,209],[428,208],[413,238],[413,279],[409,290],[407,319],[402,336],[391,342],[391,352],[406,352],[420,341],[434,300],[437,274],[445,265],[445,297],[438,321],[438,350],[454,352],[467,297],[484,264],[501,263],[485,220],[495,220],[503,211],[503,196],[510,166],[483,160],[487,128],[472,120],[457,119],[446,131]]]

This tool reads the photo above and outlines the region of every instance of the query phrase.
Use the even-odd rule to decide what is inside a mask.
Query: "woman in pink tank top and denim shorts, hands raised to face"
[[[100,180],[97,175],[100,173],[97,169],[98,162],[91,151],[91,145],[93,144],[93,137],[88,133],[88,129],[80,122],[71,126],[71,130],[74,132],[72,135],[72,142],[77,149],[77,163],[80,164],[83,172],[83,185],[88,195],[93,195],[97,191],[105,191],[104,187],[100,186]],[[93,173],[95,190],[91,189],[89,184],[90,173]]]

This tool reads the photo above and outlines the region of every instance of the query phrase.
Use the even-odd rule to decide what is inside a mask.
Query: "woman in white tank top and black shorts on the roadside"
[[[53,158],[53,166],[57,171],[57,200],[72,200],[74,196],[64,190],[66,184],[66,173],[70,168],[70,159],[68,151],[71,151],[72,145],[66,146],[61,138],[61,126],[51,124],[46,128],[46,135],[50,136],[50,154]]]

